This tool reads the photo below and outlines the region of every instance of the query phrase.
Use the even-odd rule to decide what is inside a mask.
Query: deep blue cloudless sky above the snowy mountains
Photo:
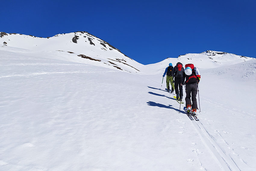
[[[0,2],[0,32],[87,31],[142,64],[206,50],[256,58],[255,0]]]

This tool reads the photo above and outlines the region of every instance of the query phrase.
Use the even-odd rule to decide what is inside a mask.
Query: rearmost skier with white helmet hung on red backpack
[[[197,95],[197,86],[200,81],[201,75],[199,70],[194,67],[194,64],[186,64],[185,65],[185,74],[186,74],[186,82],[184,84],[186,85],[186,107],[187,112],[190,113],[190,110],[192,109],[193,115],[196,114],[197,107],[197,101],[196,101],[196,95]],[[191,106],[191,95],[192,95],[192,106]]]

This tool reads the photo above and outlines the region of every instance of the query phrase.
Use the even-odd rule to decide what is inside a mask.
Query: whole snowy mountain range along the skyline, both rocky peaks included
[[[2,45],[19,48],[20,53],[30,53],[32,56],[42,56],[44,54],[46,58],[114,68],[139,74],[162,73],[169,63],[173,63],[173,65],[177,62],[182,62],[184,65],[193,63],[200,69],[209,69],[254,59],[208,50],[200,54],[185,54],[178,58],[167,58],[156,64],[142,65],[121,53],[120,50],[111,46],[108,42],[82,31],[58,34],[48,38],[0,32],[0,37]],[[11,49],[11,51],[13,50]]]

